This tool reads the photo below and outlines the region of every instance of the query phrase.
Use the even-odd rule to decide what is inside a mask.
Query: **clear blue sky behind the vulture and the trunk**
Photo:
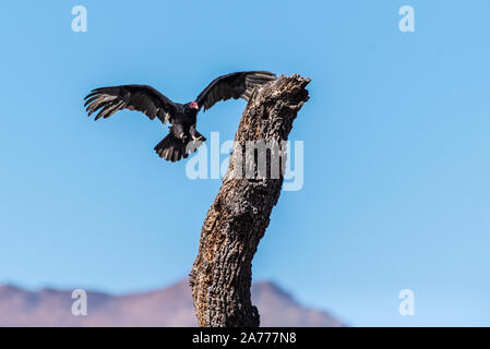
[[[87,33],[71,9],[88,11]],[[398,31],[415,8],[416,32]],[[147,290],[184,277],[219,180],[160,160],[166,129],[94,122],[94,87],[192,100],[240,70],[300,73],[304,185],[253,261],[351,325],[490,325],[490,2],[10,1],[0,5],[0,282]],[[232,139],[243,100],[201,115]],[[415,316],[398,314],[413,289]]]

